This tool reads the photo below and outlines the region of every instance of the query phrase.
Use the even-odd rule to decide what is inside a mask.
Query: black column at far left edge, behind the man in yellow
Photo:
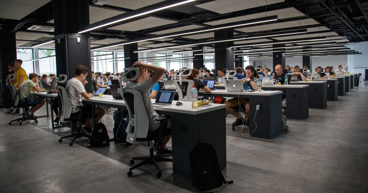
[[[0,90],[6,84],[6,76],[10,74],[8,64],[17,59],[17,44],[15,43],[15,32],[0,30]]]

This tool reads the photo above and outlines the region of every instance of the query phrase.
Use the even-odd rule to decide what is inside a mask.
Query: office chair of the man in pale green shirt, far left
[[[6,82],[13,81],[14,79],[15,79],[15,75],[11,74]],[[12,91],[11,96],[12,96],[12,99],[14,101],[13,107],[14,108],[23,108],[22,118],[18,118],[18,119],[14,119],[14,120],[10,121],[9,125],[11,125],[11,122],[14,122],[14,121],[18,121],[19,125],[22,125],[22,122],[25,121],[25,120],[33,120],[35,122],[38,122],[37,118],[30,119],[30,118],[25,116],[26,113],[29,111],[29,107],[36,106],[35,104],[27,104],[27,99],[31,99],[33,97],[25,97],[24,98],[24,103],[20,104],[21,100],[19,100],[18,92],[17,92],[17,89],[15,89],[15,86],[11,83],[7,83],[7,86],[9,86],[11,91]]]

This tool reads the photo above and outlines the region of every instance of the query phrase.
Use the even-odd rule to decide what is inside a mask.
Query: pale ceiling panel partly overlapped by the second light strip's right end
[[[204,24],[206,24],[206,25],[220,25],[220,24],[227,24],[227,23],[231,23],[231,22],[262,18],[262,17],[266,17],[266,16],[271,16],[271,15],[277,15],[278,19],[284,19],[284,18],[291,18],[291,17],[299,17],[299,16],[302,16],[302,15],[305,15],[305,14],[298,11],[294,7],[289,7],[289,8],[279,9],[279,10],[273,10],[273,11],[261,12],[261,13],[256,13],[256,14],[243,15],[243,16],[239,16],[239,17],[221,19],[221,20],[217,20],[217,21],[210,21],[210,22],[206,22]]]

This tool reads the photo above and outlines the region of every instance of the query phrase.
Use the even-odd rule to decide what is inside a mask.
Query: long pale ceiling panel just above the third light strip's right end
[[[258,25],[247,28],[239,28],[237,31],[249,33],[249,32],[258,32],[258,31],[267,31],[272,29],[282,29],[282,28],[293,28],[298,26],[306,26],[306,25],[316,25],[319,24],[318,21],[314,19],[301,19],[297,21],[287,21],[280,22],[275,24],[266,24],[266,25]]]

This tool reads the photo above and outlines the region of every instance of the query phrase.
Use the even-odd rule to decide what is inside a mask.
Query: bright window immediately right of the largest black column
[[[110,54],[110,55],[99,56],[99,55],[105,55],[105,54]],[[111,74],[115,73],[114,62],[110,62],[113,60],[106,60],[109,58],[113,58],[112,51],[93,51],[93,56],[99,56],[93,59],[93,60],[98,60],[98,61],[95,61],[95,69],[94,69],[95,71],[94,72],[101,72],[101,73],[111,72]]]

